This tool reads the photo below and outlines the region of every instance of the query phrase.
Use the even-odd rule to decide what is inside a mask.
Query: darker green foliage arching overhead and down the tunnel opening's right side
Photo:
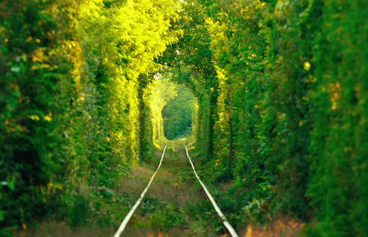
[[[218,82],[210,50],[210,32],[207,15],[196,1],[184,1],[181,14],[173,29],[181,30],[178,43],[167,48],[158,62],[169,66],[176,74],[173,81],[189,88],[197,98],[197,126],[194,132],[197,147],[206,158],[213,153],[214,109],[217,101]]]

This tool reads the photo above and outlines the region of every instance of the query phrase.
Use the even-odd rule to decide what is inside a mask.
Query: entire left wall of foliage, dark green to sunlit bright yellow
[[[146,75],[177,40],[169,27],[178,6],[0,3],[1,228],[50,217],[72,225],[109,218],[115,203],[94,190],[116,186],[152,149]]]

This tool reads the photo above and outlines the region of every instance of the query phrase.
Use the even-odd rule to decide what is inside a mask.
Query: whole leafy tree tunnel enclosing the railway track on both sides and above
[[[117,225],[123,199],[101,187],[191,134],[206,182],[232,183],[237,229],[281,213],[309,236],[367,236],[367,9],[1,1],[0,234],[45,218]]]

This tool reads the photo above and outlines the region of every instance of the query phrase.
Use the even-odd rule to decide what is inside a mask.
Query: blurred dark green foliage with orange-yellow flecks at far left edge
[[[51,14],[54,6],[59,9]],[[70,78],[78,45],[64,40],[70,39],[67,25],[75,25],[65,18],[70,11],[73,6],[59,1],[1,3],[1,228],[60,206],[63,179],[56,174],[65,171],[69,154],[56,157],[69,143],[61,131],[77,90]],[[65,21],[57,22],[59,17]]]

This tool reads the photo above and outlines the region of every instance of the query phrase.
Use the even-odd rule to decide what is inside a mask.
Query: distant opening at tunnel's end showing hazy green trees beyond
[[[176,86],[177,96],[162,109],[163,131],[168,140],[190,137],[194,115],[195,98],[183,85]]]

